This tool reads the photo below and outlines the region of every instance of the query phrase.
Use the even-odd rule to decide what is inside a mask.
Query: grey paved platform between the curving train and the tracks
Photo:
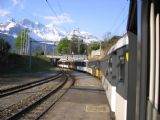
[[[100,81],[86,73],[71,72],[75,84],[41,120],[111,120]]]

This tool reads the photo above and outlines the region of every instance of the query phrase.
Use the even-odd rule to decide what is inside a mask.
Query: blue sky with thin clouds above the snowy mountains
[[[128,11],[129,0],[0,0],[0,23],[27,18],[103,39],[126,33]]]

